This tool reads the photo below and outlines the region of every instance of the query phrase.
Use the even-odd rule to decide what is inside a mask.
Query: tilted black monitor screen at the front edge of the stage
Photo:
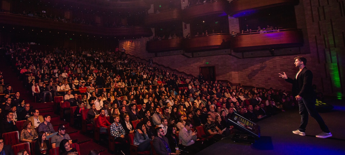
[[[228,117],[230,124],[235,127],[235,129],[245,132],[249,135],[254,136],[256,139],[260,138],[260,126],[251,122],[250,120],[236,114],[232,113]]]

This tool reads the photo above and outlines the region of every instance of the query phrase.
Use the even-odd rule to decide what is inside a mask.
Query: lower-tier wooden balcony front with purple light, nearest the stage
[[[303,34],[300,29],[243,33],[231,37],[231,48],[235,52],[300,46],[303,46]]]

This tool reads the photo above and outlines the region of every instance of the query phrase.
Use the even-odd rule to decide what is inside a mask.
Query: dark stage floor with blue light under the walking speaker
[[[321,129],[310,117],[306,136],[293,134],[300,124],[298,109],[280,113],[257,124],[261,127],[260,139],[250,145],[222,139],[205,148],[198,155],[344,155],[345,154],[345,100],[329,100],[333,110],[320,113],[332,133],[329,138],[316,138]]]

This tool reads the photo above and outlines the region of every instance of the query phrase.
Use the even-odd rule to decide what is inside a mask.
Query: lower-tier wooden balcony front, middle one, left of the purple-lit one
[[[230,37],[226,33],[215,33],[188,38],[184,41],[184,49],[186,52],[227,49],[230,48]]]

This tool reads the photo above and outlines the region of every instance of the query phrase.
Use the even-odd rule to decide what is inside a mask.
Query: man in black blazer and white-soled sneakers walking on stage
[[[328,127],[326,126],[322,117],[318,114],[315,109],[316,95],[312,87],[313,83],[313,73],[311,70],[307,69],[307,59],[304,57],[296,57],[295,65],[299,68],[296,76],[288,78],[285,74],[280,74],[279,77],[285,79],[285,81],[292,83],[292,93],[298,101],[299,105],[299,114],[301,115],[301,124],[298,130],[293,131],[292,133],[305,136],[305,128],[308,123],[308,113],[312,116],[322,129],[322,133],[316,135],[318,138],[327,138],[331,137],[332,134],[329,132]]]

